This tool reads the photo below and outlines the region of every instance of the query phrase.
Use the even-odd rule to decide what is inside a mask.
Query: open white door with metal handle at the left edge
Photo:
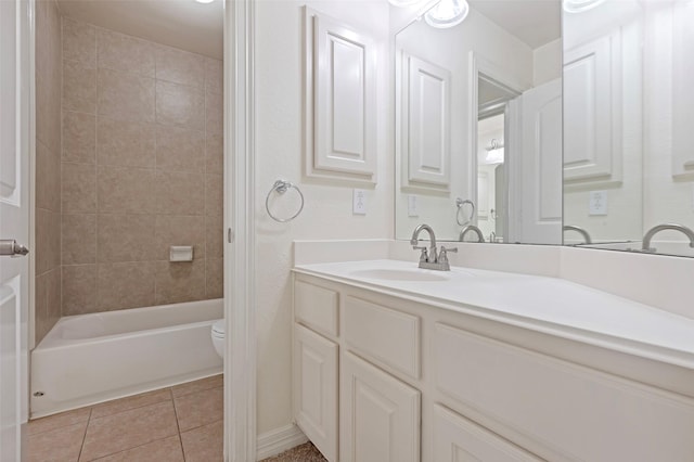
[[[0,254],[29,240],[28,1],[0,1]],[[17,246],[4,240],[16,240]],[[29,259],[0,256],[0,460],[18,461],[27,409]]]

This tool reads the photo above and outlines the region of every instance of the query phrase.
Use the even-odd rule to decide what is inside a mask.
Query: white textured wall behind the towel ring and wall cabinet
[[[388,60],[388,3],[318,1],[314,10],[371,31],[378,40],[377,178],[367,191],[367,215],[352,215],[352,188],[304,178],[303,13],[299,1],[256,2],[256,300],[258,434],[292,422],[292,242],[312,239],[393,238],[393,111]],[[301,215],[272,221],[265,198],[278,178],[296,182],[306,197]],[[294,209],[279,208],[278,213]]]

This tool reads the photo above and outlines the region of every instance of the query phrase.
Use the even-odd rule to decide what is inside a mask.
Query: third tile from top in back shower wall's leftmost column
[[[97,117],[63,112],[63,161],[93,164],[97,149]]]

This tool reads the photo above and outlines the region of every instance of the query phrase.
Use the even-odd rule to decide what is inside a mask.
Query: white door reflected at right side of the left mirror
[[[562,244],[562,82],[523,93],[520,242]]]

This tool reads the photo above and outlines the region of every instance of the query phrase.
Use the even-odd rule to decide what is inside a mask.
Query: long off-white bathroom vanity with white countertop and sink
[[[691,461],[694,320],[558,278],[294,268],[294,415],[330,461]]]

